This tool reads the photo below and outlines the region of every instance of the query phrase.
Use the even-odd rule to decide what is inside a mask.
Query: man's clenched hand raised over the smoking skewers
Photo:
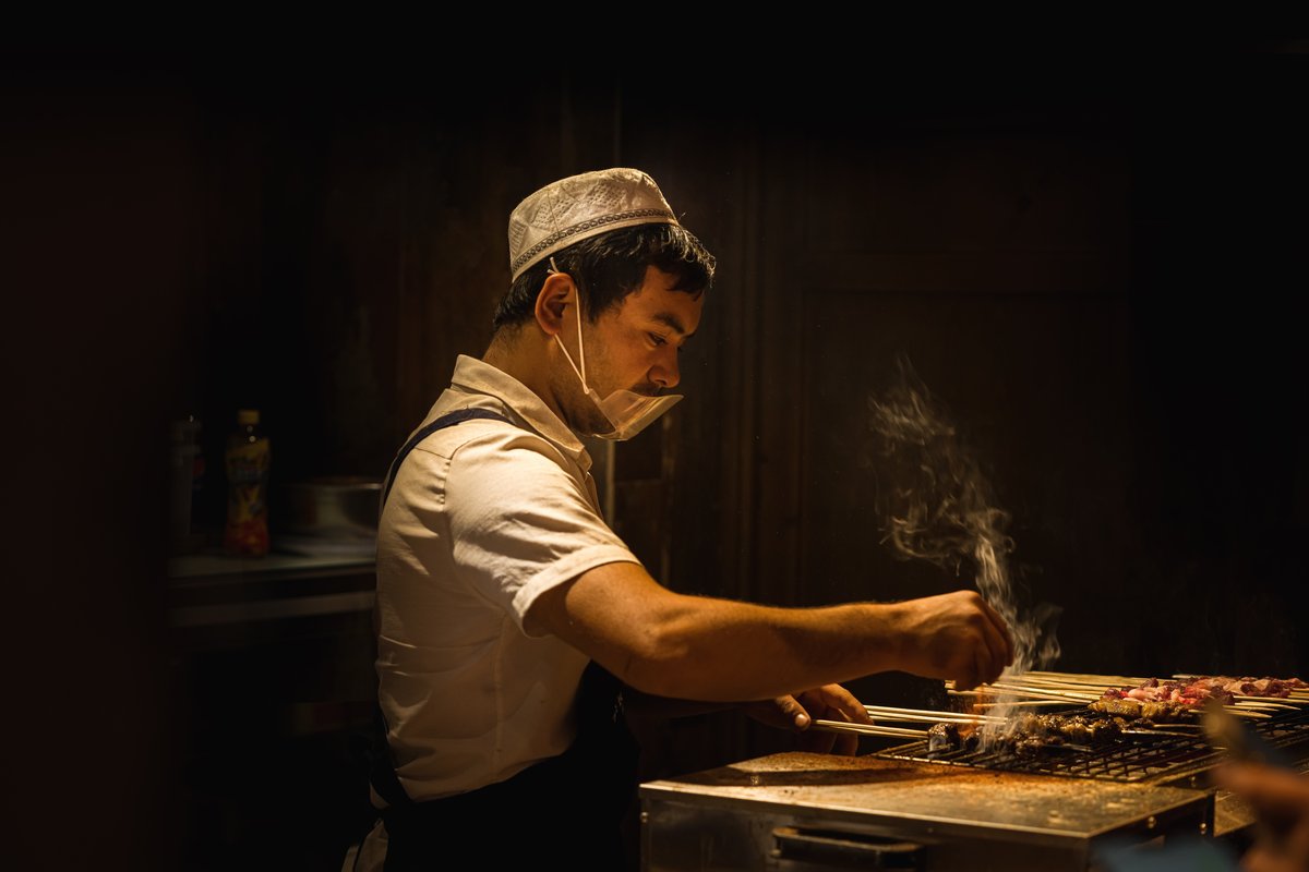
[[[948,679],[969,690],[1000,677],[1013,663],[1013,637],[977,591],[899,603],[901,660],[906,672]]]

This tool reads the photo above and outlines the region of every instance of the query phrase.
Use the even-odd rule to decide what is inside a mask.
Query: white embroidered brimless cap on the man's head
[[[628,167],[571,175],[509,213],[509,281],[580,239],[639,224],[677,224],[654,179]]]

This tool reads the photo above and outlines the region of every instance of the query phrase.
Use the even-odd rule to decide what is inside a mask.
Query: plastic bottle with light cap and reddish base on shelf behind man
[[[268,553],[268,468],[272,448],[259,429],[259,411],[237,412],[237,429],[228,437],[228,523],[223,546],[232,554]]]

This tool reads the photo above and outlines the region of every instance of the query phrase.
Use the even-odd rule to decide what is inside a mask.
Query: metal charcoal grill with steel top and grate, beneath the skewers
[[[1305,767],[1309,711],[1251,726]],[[1096,872],[1109,847],[1212,843],[1249,828],[1244,805],[1207,778],[1219,760],[1200,735],[1035,757],[932,753],[925,741],[852,758],[772,754],[641,784],[641,867]]]

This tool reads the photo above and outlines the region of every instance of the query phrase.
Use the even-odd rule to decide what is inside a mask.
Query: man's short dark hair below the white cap
[[[677,277],[674,290],[699,294],[713,284],[715,259],[700,241],[675,224],[640,224],[576,242],[554,255],[559,272],[572,276],[581,289],[583,312],[594,322],[619,305],[645,281],[645,268],[656,267]],[[541,285],[550,275],[550,258],[533,264],[496,303],[495,329],[521,324],[537,307]]]

